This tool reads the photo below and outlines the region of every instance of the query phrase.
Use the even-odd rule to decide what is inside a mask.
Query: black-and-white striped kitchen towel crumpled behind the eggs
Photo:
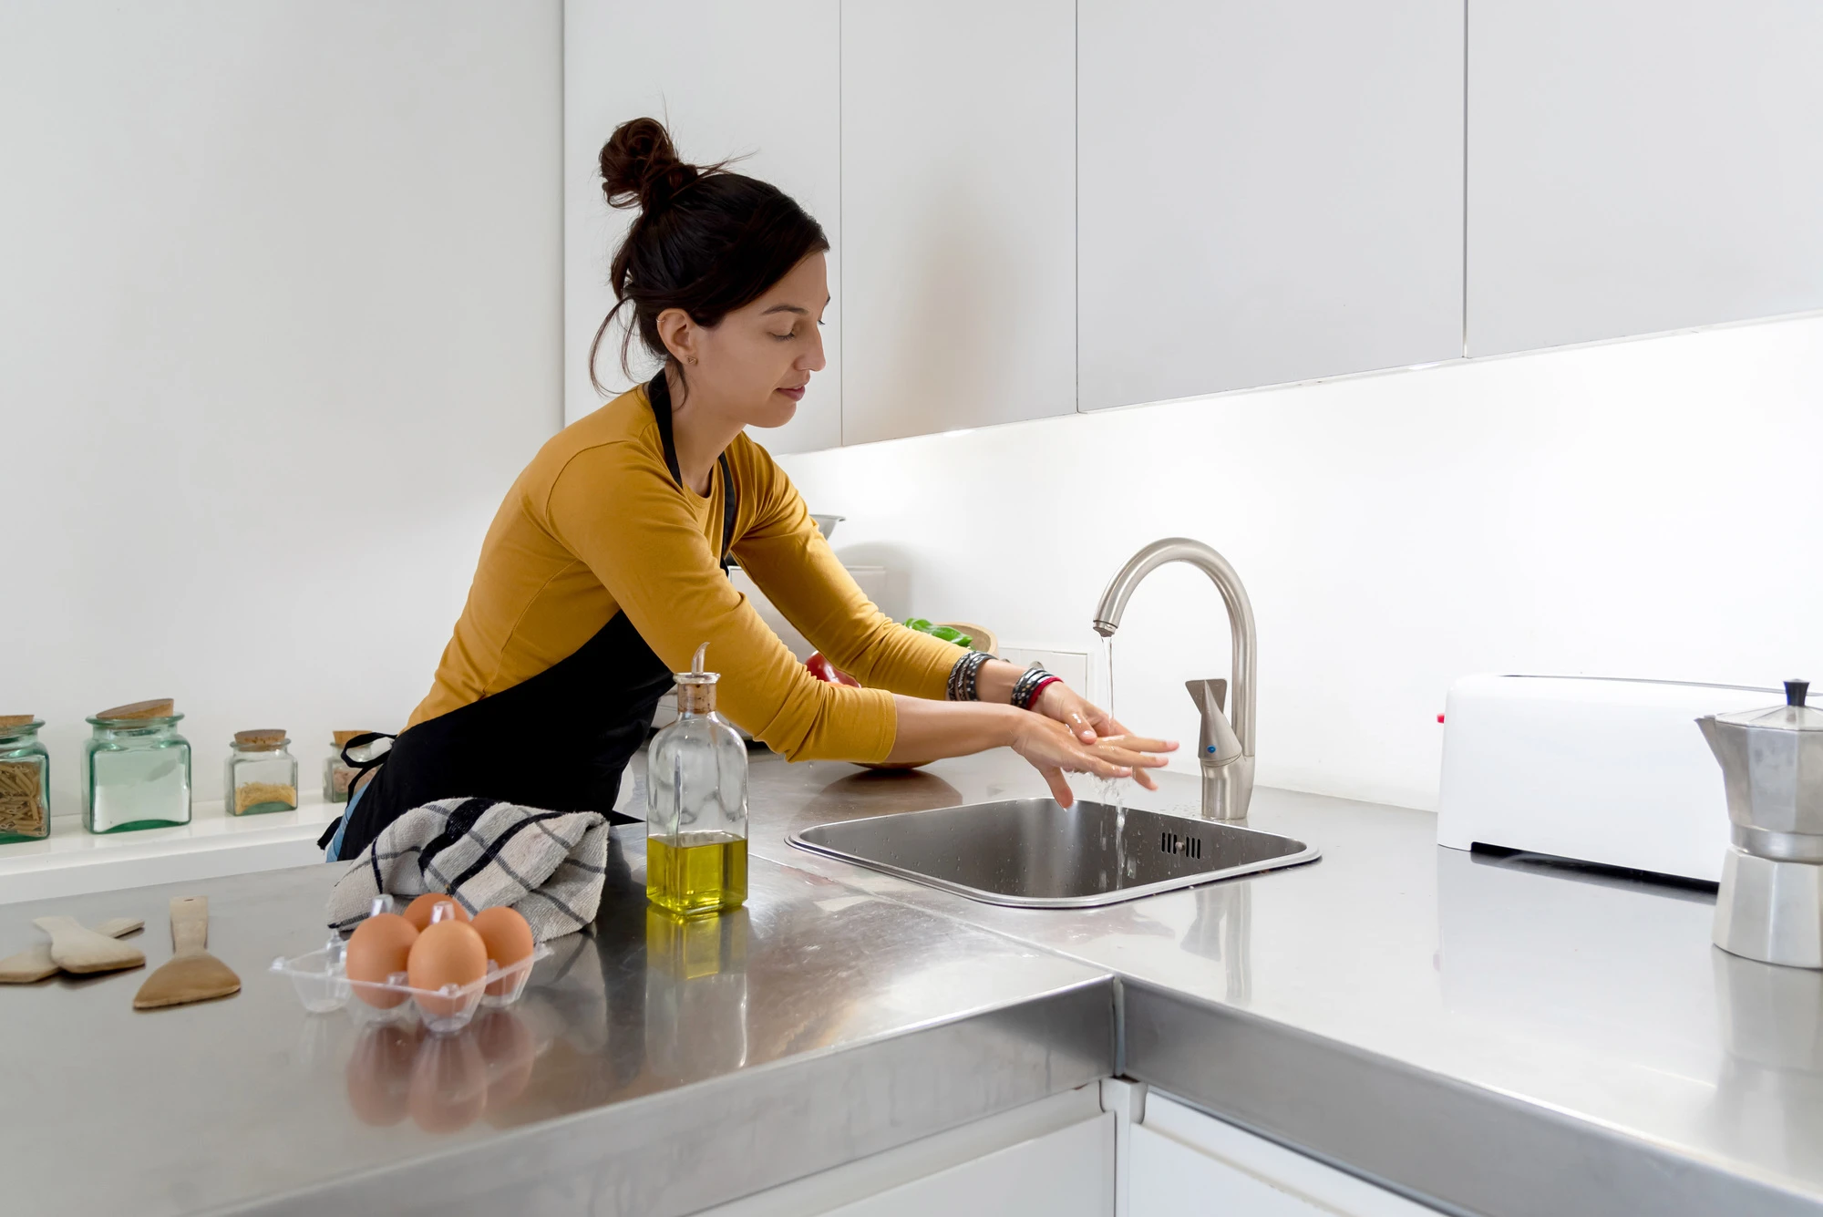
[[[607,874],[607,818],[492,798],[443,798],[388,823],[330,891],[330,929],[354,929],[388,893],[448,893],[470,915],[505,904],[547,942],[594,920]]]

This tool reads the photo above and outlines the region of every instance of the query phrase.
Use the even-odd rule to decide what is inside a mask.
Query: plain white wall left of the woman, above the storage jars
[[[403,725],[561,424],[558,0],[0,5],[0,712]]]

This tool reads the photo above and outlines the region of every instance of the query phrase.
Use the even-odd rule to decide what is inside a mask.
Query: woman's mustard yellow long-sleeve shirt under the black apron
[[[707,641],[722,714],[789,760],[886,760],[897,732],[890,694],[942,698],[961,650],[868,601],[766,448],[740,435],[727,461],[735,557],[864,689],[813,678],[733,588],[716,561],[720,466],[707,497],[671,477],[642,386],[567,426],[512,483],[410,725],[543,672],[625,612],[673,672]]]

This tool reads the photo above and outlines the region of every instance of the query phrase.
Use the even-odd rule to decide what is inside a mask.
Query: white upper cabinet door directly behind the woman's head
[[[569,0],[563,20],[565,421],[602,404],[589,384],[589,341],[614,306],[607,264],[633,219],[602,199],[596,155],[614,126],[651,115],[669,124],[685,160],[740,157],[735,171],[797,199],[829,235],[829,366],[811,377],[791,423],[753,437],[773,452],[842,443],[837,0],[795,0],[788,9],[751,0]],[[618,332],[613,337],[602,341],[596,366],[603,384],[623,388]],[[634,344],[642,370],[651,375]]]

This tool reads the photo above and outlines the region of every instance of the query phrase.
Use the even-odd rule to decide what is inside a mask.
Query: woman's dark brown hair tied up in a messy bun
[[[729,173],[726,164],[678,160],[656,118],[622,122],[602,144],[602,193],[611,208],[640,210],[609,268],[616,304],[589,344],[589,383],[603,395],[596,352],[622,308],[633,306],[620,343],[620,368],[631,379],[634,332],[645,350],[675,363],[658,337],[658,313],[682,308],[698,326],[716,326],[829,248],[822,224],[777,186]]]

